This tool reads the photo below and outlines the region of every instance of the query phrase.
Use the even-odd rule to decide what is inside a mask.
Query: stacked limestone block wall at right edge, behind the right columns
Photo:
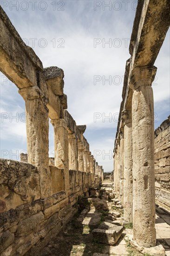
[[[170,116],[155,130],[156,203],[170,210]]]

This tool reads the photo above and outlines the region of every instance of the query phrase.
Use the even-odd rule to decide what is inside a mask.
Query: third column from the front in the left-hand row
[[[69,169],[78,170],[78,140],[75,133],[68,134]]]

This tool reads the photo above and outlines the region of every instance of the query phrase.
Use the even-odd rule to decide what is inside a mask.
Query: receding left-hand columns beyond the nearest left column
[[[64,119],[51,121],[54,127],[55,166],[65,171],[65,189],[69,189],[69,169],[94,173],[90,168],[91,152],[88,151],[75,133],[71,132]]]

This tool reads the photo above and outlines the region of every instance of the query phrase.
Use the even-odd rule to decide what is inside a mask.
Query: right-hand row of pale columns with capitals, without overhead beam
[[[114,186],[124,206],[124,221],[133,222],[133,239],[156,245],[154,106],[151,84],[157,68],[132,70],[131,108],[122,111],[114,150]]]

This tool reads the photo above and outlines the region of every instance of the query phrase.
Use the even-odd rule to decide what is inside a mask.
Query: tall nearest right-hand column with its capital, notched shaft
[[[157,68],[132,70],[133,234],[144,247],[156,245],[154,106],[151,88]]]

